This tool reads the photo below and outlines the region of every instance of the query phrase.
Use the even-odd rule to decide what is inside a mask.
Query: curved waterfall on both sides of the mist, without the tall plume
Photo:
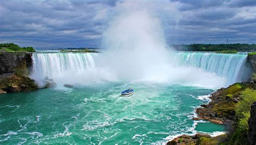
[[[114,71],[111,70],[111,67],[109,67],[111,64],[99,61],[103,60],[101,59],[103,56],[104,53],[34,53],[32,56],[33,73],[31,78],[38,81],[38,79],[48,76],[60,84],[83,84],[84,82],[89,83],[89,81],[120,79],[115,74],[115,71],[120,70],[120,68]],[[172,66],[170,67],[171,69],[160,70],[163,72],[160,75],[167,75],[166,78],[169,77],[171,81],[174,80],[174,83],[181,78],[181,83],[191,81],[189,79],[192,79],[192,83],[197,84],[197,80],[200,79],[199,84],[202,84],[203,81],[208,81],[208,84],[212,84],[212,82],[213,84],[221,84],[227,81],[225,82],[227,83],[226,85],[230,85],[234,82],[247,80],[251,72],[250,66],[247,66],[246,63],[247,56],[245,54],[171,52],[170,58],[172,60],[169,63]],[[106,67],[102,67],[104,66],[102,64],[105,64]],[[190,68],[194,69],[191,70]],[[189,70],[192,72],[189,72]],[[202,71],[212,73],[213,75],[204,75],[205,73],[202,73]],[[150,73],[153,73],[156,77],[159,75],[158,72]],[[189,75],[191,76],[189,77]],[[212,78],[216,75],[220,78],[225,78],[225,80]],[[146,74],[145,76],[147,77]],[[164,78],[163,80],[166,79]]]

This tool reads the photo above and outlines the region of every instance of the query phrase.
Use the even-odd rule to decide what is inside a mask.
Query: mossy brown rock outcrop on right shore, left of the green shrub
[[[230,125],[235,117],[235,107],[240,100],[239,92],[245,88],[255,89],[256,85],[235,83],[227,88],[218,89],[211,94],[211,102],[197,109],[199,118],[194,118],[194,120],[204,119],[213,123]]]

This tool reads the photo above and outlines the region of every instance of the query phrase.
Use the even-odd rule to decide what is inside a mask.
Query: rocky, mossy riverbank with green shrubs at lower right
[[[193,118],[194,120],[207,120],[213,123],[225,125],[227,126],[229,131],[233,130],[231,133],[215,137],[211,137],[210,135],[207,134],[196,134],[192,136],[181,135],[167,142],[167,144],[220,144],[224,142],[231,144],[239,144],[241,142],[247,143],[247,138],[254,138],[252,136],[255,136],[255,133],[253,132],[253,128],[255,127],[252,127],[252,125],[249,126],[250,128],[252,128],[251,134],[238,133],[240,132],[240,124],[244,123],[241,122],[241,120],[246,121],[246,123],[244,123],[245,125],[243,125],[245,128],[247,127],[248,129],[248,118],[244,116],[239,118],[239,115],[244,114],[239,114],[239,108],[241,106],[241,103],[243,103],[244,100],[246,99],[250,99],[251,101],[246,102],[247,106],[250,106],[253,101],[256,101],[255,99],[253,100],[250,98],[253,98],[253,96],[256,94],[256,92],[254,91],[255,89],[256,84],[253,81],[235,83],[227,88],[220,88],[210,95],[209,98],[211,99],[211,101],[209,103],[201,105],[199,108],[196,109],[196,113],[198,114],[199,117]],[[246,92],[250,91],[252,92],[251,94],[246,94]],[[245,110],[247,108],[248,107],[244,106]],[[252,110],[251,112],[255,111]],[[252,116],[252,118],[255,118],[255,116]],[[252,120],[253,119],[251,119],[251,124],[253,124]],[[245,130],[243,130],[243,132],[245,132]]]

